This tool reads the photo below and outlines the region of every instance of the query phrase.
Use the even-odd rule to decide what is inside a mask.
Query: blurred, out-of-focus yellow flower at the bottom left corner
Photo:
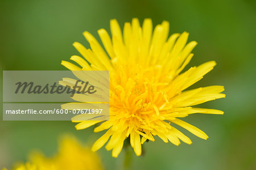
[[[103,169],[100,158],[90,148],[82,146],[73,136],[60,140],[59,151],[53,157],[41,152],[32,152],[27,163],[17,163],[14,170],[100,170]],[[7,170],[7,169],[6,169]]]

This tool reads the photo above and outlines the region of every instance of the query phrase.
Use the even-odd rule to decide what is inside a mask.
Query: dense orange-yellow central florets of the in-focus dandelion
[[[168,103],[159,66],[142,68],[141,65],[122,65],[110,73],[110,105],[126,119],[144,122],[159,119],[159,110]],[[153,117],[153,119],[152,119]]]

